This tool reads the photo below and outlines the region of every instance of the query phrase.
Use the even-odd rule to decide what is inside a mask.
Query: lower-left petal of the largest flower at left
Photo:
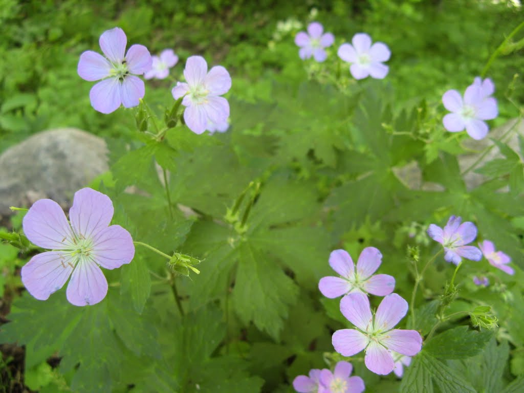
[[[71,256],[48,251],[32,257],[22,267],[20,276],[28,292],[38,300],[46,300],[50,294],[63,287],[73,268],[68,262]]]

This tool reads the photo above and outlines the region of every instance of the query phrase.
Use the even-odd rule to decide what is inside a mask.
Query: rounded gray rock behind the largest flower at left
[[[41,198],[67,208],[75,191],[108,170],[107,146],[80,129],[48,130],[4,151],[0,168],[0,216]]]

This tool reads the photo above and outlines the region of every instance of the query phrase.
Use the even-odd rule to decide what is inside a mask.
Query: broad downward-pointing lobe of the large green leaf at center
[[[283,319],[297,301],[298,287],[267,255],[249,243],[239,248],[233,305],[244,323],[279,339]],[[271,290],[268,290],[271,288]]]

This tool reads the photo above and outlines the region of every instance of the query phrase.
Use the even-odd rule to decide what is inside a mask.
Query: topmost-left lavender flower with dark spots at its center
[[[144,97],[141,75],[151,68],[151,55],[143,45],[133,45],[126,55],[127,37],[121,28],[104,31],[100,48],[105,58],[88,50],[80,55],[78,74],[86,81],[99,81],[89,92],[91,105],[96,111],[111,113],[123,104],[126,108],[137,106]]]

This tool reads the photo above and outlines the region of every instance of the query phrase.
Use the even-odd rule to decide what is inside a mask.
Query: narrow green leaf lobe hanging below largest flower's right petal
[[[129,296],[135,311],[141,313],[151,293],[151,277],[146,261],[140,254],[121,268],[122,296]]]

